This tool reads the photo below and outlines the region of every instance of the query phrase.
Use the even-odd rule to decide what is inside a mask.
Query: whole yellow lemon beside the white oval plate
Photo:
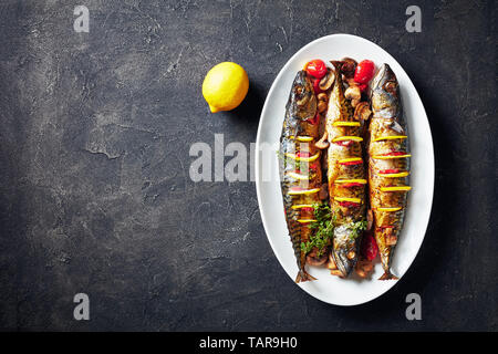
[[[212,113],[234,110],[243,101],[248,90],[246,71],[232,62],[215,65],[203,83],[203,96]]]

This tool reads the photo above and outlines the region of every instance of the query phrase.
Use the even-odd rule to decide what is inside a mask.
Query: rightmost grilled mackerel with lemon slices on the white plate
[[[411,155],[398,83],[387,64],[372,80],[371,102],[369,183],[375,240],[384,269],[380,280],[397,279],[391,273],[391,262],[411,189]]]

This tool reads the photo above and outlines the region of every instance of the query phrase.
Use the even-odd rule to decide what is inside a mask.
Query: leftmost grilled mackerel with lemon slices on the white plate
[[[321,185],[317,97],[305,71],[298,72],[286,106],[280,137],[280,184],[286,219],[298,262],[295,282],[314,280],[307,272],[307,254],[301,249],[312,233],[313,205],[319,202]]]

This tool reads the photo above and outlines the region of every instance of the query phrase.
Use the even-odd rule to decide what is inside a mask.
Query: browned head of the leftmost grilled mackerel
[[[290,105],[290,113],[301,121],[312,119],[317,114],[313,84],[304,70],[295,75],[288,105]]]

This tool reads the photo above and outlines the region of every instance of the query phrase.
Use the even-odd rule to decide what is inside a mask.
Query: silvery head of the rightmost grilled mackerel
[[[393,118],[400,113],[400,86],[391,66],[383,64],[370,84],[372,108],[382,117]]]

